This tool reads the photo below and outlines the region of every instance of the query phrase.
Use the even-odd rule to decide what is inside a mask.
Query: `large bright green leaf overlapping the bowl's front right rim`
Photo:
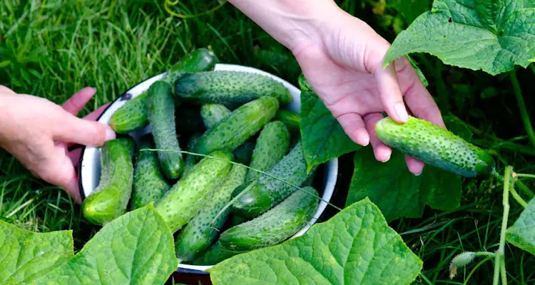
[[[213,284],[410,284],[422,261],[363,199],[295,239],[209,269]]]

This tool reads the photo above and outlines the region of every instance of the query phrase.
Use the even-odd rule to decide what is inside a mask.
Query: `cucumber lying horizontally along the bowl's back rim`
[[[262,96],[272,96],[280,105],[292,102],[282,83],[258,73],[205,71],[188,73],[176,81],[175,95],[196,103],[218,103],[236,108]]]

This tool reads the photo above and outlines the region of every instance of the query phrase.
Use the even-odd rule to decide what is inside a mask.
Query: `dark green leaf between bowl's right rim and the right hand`
[[[301,93],[300,130],[308,171],[360,148],[313,91]]]

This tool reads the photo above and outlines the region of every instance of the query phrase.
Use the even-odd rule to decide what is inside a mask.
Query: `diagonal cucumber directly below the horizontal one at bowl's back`
[[[262,129],[275,116],[278,108],[277,99],[272,97],[261,97],[242,105],[206,131],[195,145],[195,152],[232,152]]]

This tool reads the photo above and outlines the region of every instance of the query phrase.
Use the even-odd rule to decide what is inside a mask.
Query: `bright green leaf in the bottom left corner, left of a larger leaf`
[[[21,284],[73,257],[71,231],[36,233],[0,221],[0,284]]]

